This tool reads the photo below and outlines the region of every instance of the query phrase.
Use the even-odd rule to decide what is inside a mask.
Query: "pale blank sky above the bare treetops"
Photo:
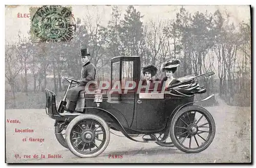
[[[18,31],[28,37],[28,31],[30,30],[30,18],[18,18],[18,13],[20,14],[29,14],[30,7],[36,6],[6,6],[5,8],[5,40],[8,43],[15,43],[18,39]],[[40,7],[40,6],[39,6]],[[86,15],[90,14],[93,17],[93,22],[98,14],[101,18],[101,24],[106,25],[111,19],[112,6],[105,5],[74,5],[72,7],[72,13],[75,18],[85,18]],[[168,5],[140,5],[134,6],[137,11],[140,11],[141,15],[144,15],[142,21],[145,23],[149,20],[158,21],[158,19],[175,19],[176,12],[179,11],[181,6],[168,6]],[[230,21],[233,21],[237,25],[242,20],[248,21],[250,18],[250,8],[249,6],[214,6],[214,5],[205,5],[205,6],[183,6],[187,12],[195,13],[197,11],[205,13],[214,13],[216,10],[220,10],[221,13],[225,12],[230,14]],[[122,14],[125,13],[127,9],[126,5],[118,6]]]

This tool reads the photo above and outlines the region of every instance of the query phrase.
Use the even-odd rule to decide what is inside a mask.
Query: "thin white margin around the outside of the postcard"
[[[147,3],[146,3],[147,2]],[[2,38],[1,38],[1,52],[3,53],[2,54],[2,61],[0,61],[1,65],[0,67],[2,68],[1,70],[1,77],[0,79],[3,79],[2,80],[2,86],[1,88],[3,88],[2,92],[1,92],[1,100],[0,102],[2,103],[2,113],[5,113],[5,92],[4,92],[4,86],[5,86],[5,61],[4,61],[4,58],[5,58],[5,5],[105,5],[105,4],[108,4],[108,5],[252,5],[252,7],[255,7],[255,0],[236,0],[236,1],[203,1],[203,0],[193,0],[193,1],[189,1],[189,0],[183,0],[183,1],[163,1],[163,0],[158,0],[158,1],[142,1],[142,0],[129,0],[129,1],[120,1],[120,0],[108,0],[108,1],[100,1],[100,0],[94,0],[94,1],[78,1],[78,0],[72,0],[72,1],[68,1],[68,0],[62,0],[62,1],[52,1],[52,0],[44,0],[44,1],[33,1],[33,0],[30,0],[30,1],[17,1],[17,0],[9,0],[9,1],[1,1],[1,5],[2,5],[2,26],[1,26],[1,32],[2,32]],[[255,8],[254,8],[255,10]],[[255,11],[254,11],[255,12]],[[253,19],[253,22],[255,23],[255,18],[252,16],[252,19]],[[254,26],[253,26],[253,30],[254,31]],[[255,45],[255,43],[253,43]],[[252,46],[253,48],[254,45]],[[254,56],[254,54],[252,54],[252,57]],[[254,60],[254,59],[253,59]],[[255,68],[253,70],[253,72],[255,73]],[[253,75],[252,75],[253,76]],[[255,83],[255,81],[254,81]],[[252,113],[254,113],[254,111],[252,111]],[[255,121],[255,114],[253,115],[254,116],[254,121]],[[5,163],[5,122],[4,122],[4,119],[2,119],[2,129],[1,130],[1,134],[3,135],[2,138],[0,139],[0,144],[1,144],[1,158],[2,158],[2,161],[1,163]],[[253,129],[254,130],[254,129]],[[255,130],[254,130],[255,132]],[[255,146],[255,145],[254,145]],[[253,159],[253,158],[252,158]],[[108,165],[108,164],[106,164]],[[155,164],[151,164],[152,166],[157,166]],[[7,166],[7,164],[4,164],[4,166]],[[27,165],[25,165],[27,166]],[[37,166],[37,165],[33,165],[33,166]],[[48,166],[47,164],[45,164],[45,166]],[[50,165],[50,167],[52,167],[53,165]],[[54,165],[54,166],[57,166],[57,165]],[[58,165],[58,166],[63,166],[63,165]],[[74,166],[74,165],[68,165],[68,166]],[[81,165],[81,166],[103,166],[103,165]],[[113,165],[108,165],[108,166],[113,166]],[[116,165],[116,166],[122,166],[122,165]],[[126,165],[126,166],[129,166],[129,167],[134,167],[134,166],[142,166],[142,165]],[[144,166],[150,166],[149,164],[146,164]],[[176,167],[176,166],[181,166],[181,165],[173,165],[173,164],[170,164],[170,165],[161,165],[161,166],[166,166],[166,167]],[[183,166],[188,166],[190,167],[191,165],[183,165]],[[199,165],[194,165],[194,166],[199,166]],[[209,165],[205,165],[205,166],[209,166]],[[223,165],[214,165],[214,166],[223,166]]]

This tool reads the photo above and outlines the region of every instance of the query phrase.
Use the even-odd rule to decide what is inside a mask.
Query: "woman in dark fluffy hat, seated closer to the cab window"
[[[144,67],[142,71],[143,71],[143,75],[145,76],[145,78],[142,80],[142,86],[146,86],[149,84],[150,90],[154,90],[155,83],[152,77],[156,75],[157,68],[154,65],[150,65],[150,66]],[[156,79],[156,80],[159,80],[159,79]],[[145,91],[146,89],[142,88],[141,90]]]

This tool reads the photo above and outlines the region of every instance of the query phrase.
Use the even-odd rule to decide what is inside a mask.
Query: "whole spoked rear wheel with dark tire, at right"
[[[215,136],[215,121],[200,106],[187,106],[174,116],[170,126],[170,138],[185,153],[202,152],[209,147]],[[179,137],[184,137],[182,141]]]

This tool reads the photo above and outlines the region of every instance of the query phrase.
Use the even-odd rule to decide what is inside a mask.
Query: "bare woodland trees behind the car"
[[[110,59],[140,55],[141,67],[181,60],[175,77],[216,74],[201,82],[207,93],[219,94],[229,105],[251,104],[251,21],[235,26],[228,13],[189,13],[180,8],[176,18],[142,22],[143,15],[129,6],[121,17],[113,6],[112,19],[102,25],[99,15],[76,18],[70,42],[32,43],[19,33],[16,44],[5,45],[6,108],[44,108],[45,88],[62,98],[67,82],[80,78],[81,47],[88,47],[97,68],[97,80],[110,78]],[[96,24],[92,23],[96,21]],[[29,32],[28,32],[29,33]]]

